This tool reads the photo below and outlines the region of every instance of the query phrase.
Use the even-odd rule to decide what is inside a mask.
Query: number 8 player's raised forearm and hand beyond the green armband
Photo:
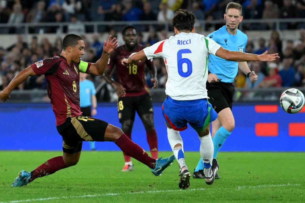
[[[108,64],[109,55],[116,47],[117,47],[116,38],[114,37],[111,40],[111,35],[109,35],[107,42],[104,41],[103,53],[101,58],[95,63],[91,64],[88,73],[93,75],[103,75]]]

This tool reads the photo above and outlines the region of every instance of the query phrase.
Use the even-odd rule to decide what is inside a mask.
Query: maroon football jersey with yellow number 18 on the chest
[[[135,51],[128,51],[125,45],[117,47],[112,54],[110,54],[107,68],[111,70],[116,67],[118,82],[126,89],[126,96],[140,96],[148,93],[149,89],[144,79],[145,64],[152,68],[152,60],[137,61],[133,66],[126,67],[121,64],[121,61],[128,58],[130,54],[144,49],[142,45],[137,45]]]

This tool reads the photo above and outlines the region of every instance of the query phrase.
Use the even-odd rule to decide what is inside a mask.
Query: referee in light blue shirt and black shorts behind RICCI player
[[[207,37],[230,51],[245,52],[248,37],[237,29],[242,18],[242,6],[239,3],[228,3],[226,13],[224,13],[226,24]],[[250,71],[247,62],[227,61],[213,55],[209,57],[208,70],[210,74],[208,75],[206,89],[210,98],[209,102],[218,114],[217,119],[212,122],[214,159],[216,159],[221,146],[235,127],[235,120],[231,111],[235,92],[232,82],[238,68],[247,75],[251,82],[257,81],[257,75],[254,71]],[[203,168],[204,163],[200,159],[194,170],[193,178],[204,178]],[[215,179],[219,179],[218,174],[215,175]]]

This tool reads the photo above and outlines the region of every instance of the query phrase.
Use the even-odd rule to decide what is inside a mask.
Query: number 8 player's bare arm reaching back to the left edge
[[[3,91],[0,92],[0,100],[5,102],[7,99],[9,99],[9,94],[12,92],[13,89],[15,89],[18,85],[20,85],[22,82],[24,82],[29,76],[36,75],[33,71],[33,69],[29,66],[26,69],[23,69],[20,71],[16,77],[13,78],[13,80],[9,83],[8,86],[6,86]]]

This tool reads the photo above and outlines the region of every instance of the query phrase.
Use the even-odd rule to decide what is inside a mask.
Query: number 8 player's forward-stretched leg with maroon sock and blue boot
[[[160,176],[163,170],[166,169],[173,161],[174,156],[170,156],[166,159],[152,159],[139,145],[132,142],[124,132],[105,121],[96,118],[80,118],[74,123],[75,126],[79,127],[79,135],[84,141],[97,141],[114,142],[126,155],[131,156],[138,161],[148,166],[155,176]]]

